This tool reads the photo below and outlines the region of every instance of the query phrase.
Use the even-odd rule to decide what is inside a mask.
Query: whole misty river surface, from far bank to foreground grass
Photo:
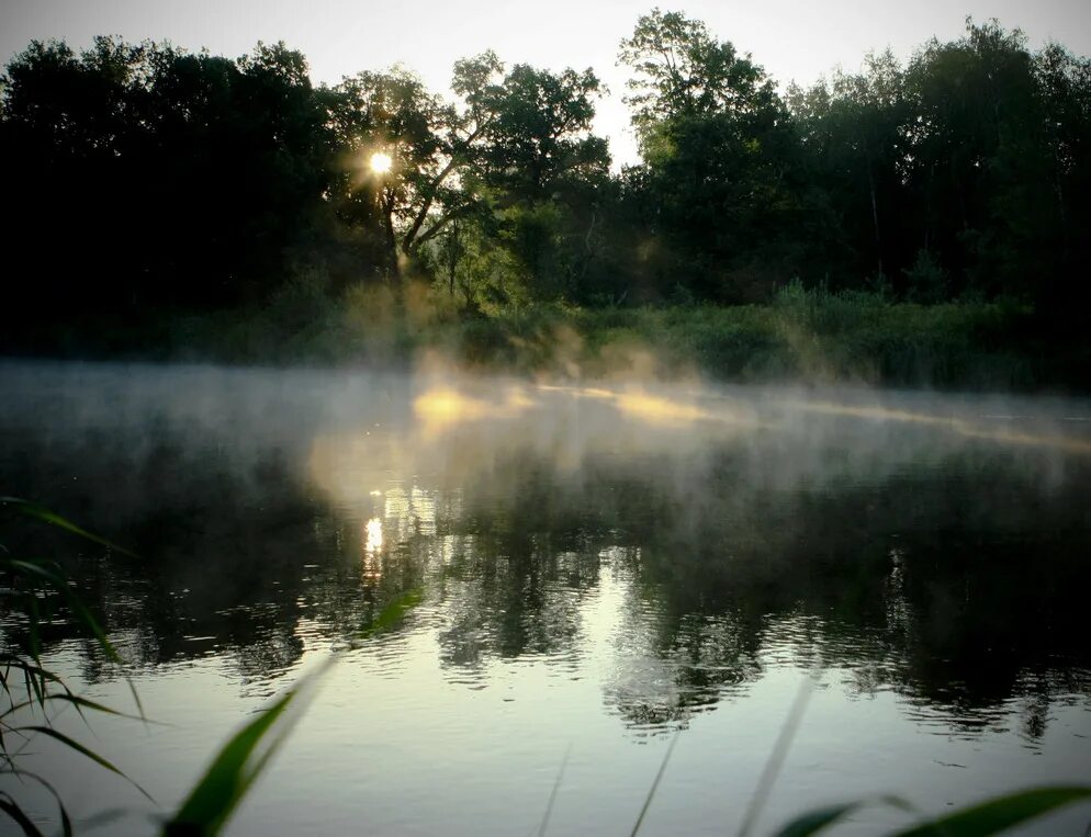
[[[1087,401],[13,363],[0,393],[0,494],[142,556],[4,521],[167,725],[58,723],[165,808],[337,653],[230,834],[536,834],[562,764],[548,833],[628,834],[676,731],[641,833],[733,834],[809,674],[758,832],[1091,778]],[[132,706],[86,637],[44,640]],[[99,833],[151,830],[105,771],[33,758],[80,817],[128,812]]]

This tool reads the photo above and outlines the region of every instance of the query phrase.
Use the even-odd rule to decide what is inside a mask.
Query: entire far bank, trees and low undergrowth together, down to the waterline
[[[802,89],[653,10],[619,59],[617,171],[589,68],[486,52],[445,97],[403,68],[315,86],[283,44],[32,43],[0,92],[0,350],[1091,380],[1087,58],[969,21]]]

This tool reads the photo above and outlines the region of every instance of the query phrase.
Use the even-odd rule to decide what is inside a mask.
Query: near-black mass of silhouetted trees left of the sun
[[[2,115],[7,258],[36,293],[31,321],[260,301],[329,188],[326,103],[282,44],[232,60],[34,43],[8,65]]]

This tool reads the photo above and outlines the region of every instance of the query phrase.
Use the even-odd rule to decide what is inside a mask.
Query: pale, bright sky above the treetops
[[[237,57],[258,41],[284,41],[311,63],[316,82],[402,63],[448,93],[455,59],[492,48],[508,64],[593,67],[612,95],[598,105],[596,131],[616,162],[636,159],[621,102],[628,72],[615,66],[621,38],[655,0],[0,0],[0,63],[31,39],[87,46],[94,35],[170,41]],[[659,3],[705,21],[713,35],[749,52],[781,84],[810,84],[836,65],[859,67],[868,49],[901,58],[932,35],[958,37],[967,14],[1019,26],[1033,47],[1059,41],[1091,54],[1088,0],[685,0]]]

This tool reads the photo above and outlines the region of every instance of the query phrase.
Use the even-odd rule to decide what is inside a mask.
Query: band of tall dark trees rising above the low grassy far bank
[[[315,86],[306,58],[100,37],[7,66],[3,347],[410,280],[461,317],[767,303],[791,283],[1012,301],[1076,335],[1091,303],[1091,60],[967,22],[908,64],[781,88],[699,21],[620,45],[641,161],[611,169],[592,69],[455,64]],[[301,314],[304,316],[305,313]],[[124,324],[119,326],[119,324]],[[1067,331],[1066,331],[1067,330]]]

